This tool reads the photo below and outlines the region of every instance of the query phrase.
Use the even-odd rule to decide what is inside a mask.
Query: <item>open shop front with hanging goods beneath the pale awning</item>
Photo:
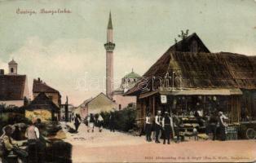
[[[203,116],[221,111],[228,117],[228,122],[239,122],[241,95],[240,89],[152,91],[139,95],[137,117],[143,121],[147,112],[151,112],[154,117],[158,110],[177,114],[179,117],[188,117],[195,115],[197,110],[201,110]]]

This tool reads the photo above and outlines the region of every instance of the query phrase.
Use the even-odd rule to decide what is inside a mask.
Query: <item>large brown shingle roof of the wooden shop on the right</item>
[[[197,35],[193,37],[197,37]],[[191,40],[192,36],[187,39]],[[187,46],[190,45],[188,40],[185,40]],[[178,42],[177,44],[181,45],[182,43]],[[185,44],[183,43],[183,45]],[[149,91],[152,88],[159,89],[160,86],[165,86],[165,83],[157,80],[157,77],[164,79],[167,74],[172,77],[173,73],[174,87],[256,89],[256,56],[229,52],[210,53],[208,49],[195,53],[188,51],[185,46],[181,50],[170,46],[169,50],[144,73],[142,79],[125,95],[138,95],[141,91],[146,90],[145,87]],[[179,77],[182,77],[183,80],[181,81]],[[172,79],[168,82],[172,84]]]

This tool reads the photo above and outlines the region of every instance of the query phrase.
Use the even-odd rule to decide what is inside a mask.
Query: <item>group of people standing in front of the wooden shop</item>
[[[225,129],[227,123],[225,121],[227,117],[223,112],[218,112],[218,115],[213,113],[204,119],[201,110],[197,110],[194,116],[200,126],[205,126],[205,134],[209,135],[212,133],[213,140],[217,139],[217,134],[219,140],[224,141],[226,139]],[[170,112],[164,112],[162,116],[161,111],[158,111],[156,117],[153,118],[148,112],[145,118],[144,130],[148,142],[151,142],[153,138],[155,143],[161,143],[159,139],[162,138],[163,144],[166,144],[166,141],[170,144],[170,139],[173,139],[175,143],[179,143],[181,141],[181,128],[181,118]],[[192,129],[192,133],[195,135],[195,139],[198,139],[196,127]]]

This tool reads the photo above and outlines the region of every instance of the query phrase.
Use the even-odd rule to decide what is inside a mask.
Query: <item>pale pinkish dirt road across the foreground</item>
[[[148,143],[144,137],[104,130],[87,133],[82,125],[78,134],[67,134],[73,144],[73,162],[237,162],[256,161],[256,141],[187,141]]]

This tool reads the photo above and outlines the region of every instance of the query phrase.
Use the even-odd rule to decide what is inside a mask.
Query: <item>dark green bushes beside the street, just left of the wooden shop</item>
[[[100,112],[100,115],[104,118],[103,126],[108,128],[110,112]],[[116,130],[127,132],[135,127],[136,111],[133,107],[113,112],[113,117]]]

